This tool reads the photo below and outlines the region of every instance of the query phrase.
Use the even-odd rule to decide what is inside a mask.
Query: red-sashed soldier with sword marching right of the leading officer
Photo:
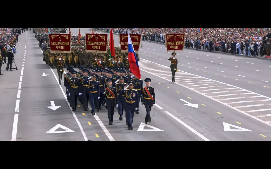
[[[145,106],[147,114],[145,117],[145,123],[151,122],[150,111],[151,107],[155,104],[155,94],[154,88],[150,86],[151,79],[146,78],[144,80],[146,82],[146,87],[143,88],[142,96],[141,96],[141,104]]]

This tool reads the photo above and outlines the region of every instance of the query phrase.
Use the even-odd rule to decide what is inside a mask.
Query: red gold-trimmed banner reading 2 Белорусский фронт
[[[107,34],[86,34],[86,51],[107,53]]]

